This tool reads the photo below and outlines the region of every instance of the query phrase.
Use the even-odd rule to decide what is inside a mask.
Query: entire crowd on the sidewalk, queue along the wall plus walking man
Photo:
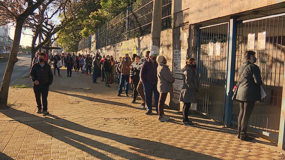
[[[167,59],[163,55],[158,55],[154,51],[146,51],[139,57],[136,54],[129,57],[129,54],[125,54],[124,57],[119,57],[118,61],[114,60],[113,56],[103,55],[96,53],[92,58],[92,55],[71,55],[70,53],[62,53],[61,55],[55,55],[51,61],[54,62],[54,76],[56,76],[56,70],[60,75],[60,63],[67,68],[67,77],[71,77],[72,69],[75,73],[79,72],[85,75],[91,75],[93,70],[92,80],[93,83],[98,83],[97,79],[102,76],[102,81],[105,82],[105,86],[110,88],[110,84],[113,83],[115,73],[118,79],[118,94],[121,96],[123,90],[125,96],[129,96],[129,83],[133,85],[132,95],[133,99],[131,103],[135,103],[138,95],[142,99],[142,103],[138,107],[139,109],[146,109],[145,114],[152,114],[152,98],[154,94],[155,109],[158,115],[158,120],[165,122],[169,120],[169,116],[164,113],[164,105],[169,92],[173,92],[172,84],[175,79],[167,65]],[[255,94],[260,92],[260,85],[262,85],[262,78],[260,75],[260,69],[256,63],[257,58],[255,52],[246,51],[244,53],[245,61],[239,68],[240,74],[237,87],[233,100],[240,102],[240,114],[238,116],[238,138],[241,140],[251,140],[247,134],[247,126],[249,117],[254,108],[255,101],[261,101],[261,95]],[[92,68],[93,66],[93,68]],[[41,68],[45,68],[41,70]],[[195,58],[189,58],[183,68],[183,86],[180,92],[179,101],[183,102],[182,124],[185,126],[194,126],[195,124],[189,120],[189,109],[192,103],[197,103],[198,98],[198,84],[196,75],[197,61]],[[30,78],[33,81],[34,93],[36,96],[36,102],[38,112],[43,115],[47,115],[47,92],[48,86],[52,83],[52,71],[46,61],[46,53],[37,52],[35,58],[32,61],[32,67],[30,71]],[[40,97],[42,96],[43,108],[41,105]]]

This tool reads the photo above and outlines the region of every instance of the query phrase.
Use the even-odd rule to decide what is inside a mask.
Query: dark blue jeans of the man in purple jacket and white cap
[[[157,90],[157,84],[145,82],[145,84],[143,84],[143,88],[145,92],[145,103],[147,104],[147,110],[152,110],[152,92],[154,92],[155,109],[158,113],[159,92]]]

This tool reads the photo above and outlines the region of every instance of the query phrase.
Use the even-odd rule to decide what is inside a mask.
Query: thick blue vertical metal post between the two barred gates
[[[224,125],[226,127],[231,126],[231,115],[233,109],[232,101],[232,88],[235,81],[235,55],[237,48],[237,17],[232,16],[229,23],[229,47],[228,47],[228,60],[227,60],[227,84],[226,84],[226,108],[225,108],[225,120]]]

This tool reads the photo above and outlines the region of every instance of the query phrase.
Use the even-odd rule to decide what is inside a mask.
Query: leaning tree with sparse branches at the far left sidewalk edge
[[[49,0],[53,1],[53,0]],[[10,57],[5,69],[4,77],[0,88],[0,108],[7,106],[9,84],[14,64],[17,62],[17,51],[19,49],[21,31],[26,19],[34,15],[34,11],[46,0],[0,0],[0,19],[5,24],[12,22],[15,25],[15,36]]]

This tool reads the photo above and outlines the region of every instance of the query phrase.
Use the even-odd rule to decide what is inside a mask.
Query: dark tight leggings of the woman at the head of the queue
[[[240,114],[237,119],[237,131],[241,133],[246,133],[247,126],[249,123],[249,117],[254,108],[255,101],[240,102]]]

